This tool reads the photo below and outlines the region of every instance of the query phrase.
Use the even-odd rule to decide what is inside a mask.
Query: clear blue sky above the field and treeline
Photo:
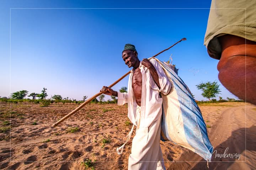
[[[4,0],[1,3],[0,96],[7,97],[20,90],[41,93],[45,87],[48,97],[55,94],[76,100],[85,95],[91,97],[103,85],[112,84],[130,70],[121,57],[125,44],[134,44],[142,60],[183,37],[187,41],[159,55],[159,60],[167,61],[172,54],[178,75],[197,100],[206,98],[195,85],[218,81],[218,60],[210,58],[203,45],[210,1]],[[113,89],[127,83],[128,77]],[[222,85],[221,89],[223,98],[235,98]]]

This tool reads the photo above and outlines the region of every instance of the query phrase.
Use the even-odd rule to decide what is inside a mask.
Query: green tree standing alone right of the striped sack
[[[219,84],[216,81],[210,82],[207,81],[206,83],[200,83],[196,85],[198,90],[202,90],[202,96],[208,98],[216,97],[216,95],[220,94]]]

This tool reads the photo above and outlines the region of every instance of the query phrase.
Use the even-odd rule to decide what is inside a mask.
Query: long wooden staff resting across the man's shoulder
[[[159,54],[161,54],[162,52],[169,50],[171,47],[175,46],[176,44],[178,44],[179,42],[183,41],[183,40],[187,40],[186,38],[182,38],[180,41],[176,42],[174,45],[170,46],[169,48],[157,53],[156,55],[154,55],[153,57],[158,56]],[[121,81],[123,78],[125,78],[128,74],[130,74],[130,72],[127,72],[126,74],[124,74],[121,78],[119,78],[117,81],[115,81],[113,84],[111,84],[108,87],[113,87],[114,85],[116,85],[119,81]],[[80,106],[78,106],[76,109],[74,109],[72,112],[70,112],[69,114],[65,115],[62,119],[58,120],[56,123],[54,123],[52,125],[52,127],[57,126],[58,124],[62,123],[65,119],[67,119],[68,117],[70,117],[71,115],[73,115],[74,113],[76,113],[77,111],[79,111],[82,107],[84,107],[87,103],[90,103],[92,100],[94,100],[96,97],[100,96],[101,94],[105,93],[105,91],[99,92],[96,95],[92,96],[91,98],[89,98],[88,100],[86,100],[84,103],[82,103]]]

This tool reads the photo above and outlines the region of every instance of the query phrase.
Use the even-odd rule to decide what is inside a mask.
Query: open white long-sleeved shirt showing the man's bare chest
[[[142,98],[141,98],[141,113],[140,113],[140,127],[149,127],[155,120],[161,118],[162,114],[162,98],[159,92],[167,95],[171,89],[171,83],[167,79],[164,70],[160,64],[154,59],[149,60],[155,67],[158,76],[160,89],[156,85],[149,69],[142,65],[140,62],[140,72],[142,73]],[[135,96],[132,89],[132,76],[133,70],[130,71],[129,81],[128,81],[128,92],[118,94],[118,105],[123,105],[128,103],[128,118],[133,124],[136,124],[136,109],[137,103],[135,101]]]

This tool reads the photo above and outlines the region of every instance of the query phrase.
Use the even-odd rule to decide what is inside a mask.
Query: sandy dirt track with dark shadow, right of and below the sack
[[[217,124],[212,126],[208,136],[214,147],[210,170],[250,170],[256,169],[256,112],[251,104],[227,108],[222,112]],[[241,154],[238,159],[221,158],[221,154]],[[227,155],[226,155],[227,156]],[[238,155],[239,156],[239,155]],[[183,162],[186,161],[186,162]],[[172,163],[168,169],[208,169],[207,163],[191,151],[183,153],[179,162]]]

